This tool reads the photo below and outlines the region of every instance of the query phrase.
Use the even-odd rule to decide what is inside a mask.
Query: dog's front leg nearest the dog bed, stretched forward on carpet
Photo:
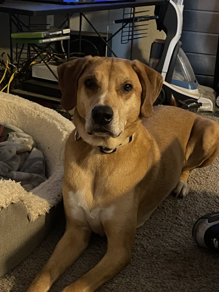
[[[90,229],[80,225],[71,225],[66,228],[52,256],[27,292],[47,292],[53,282],[84,252],[90,234]]]

